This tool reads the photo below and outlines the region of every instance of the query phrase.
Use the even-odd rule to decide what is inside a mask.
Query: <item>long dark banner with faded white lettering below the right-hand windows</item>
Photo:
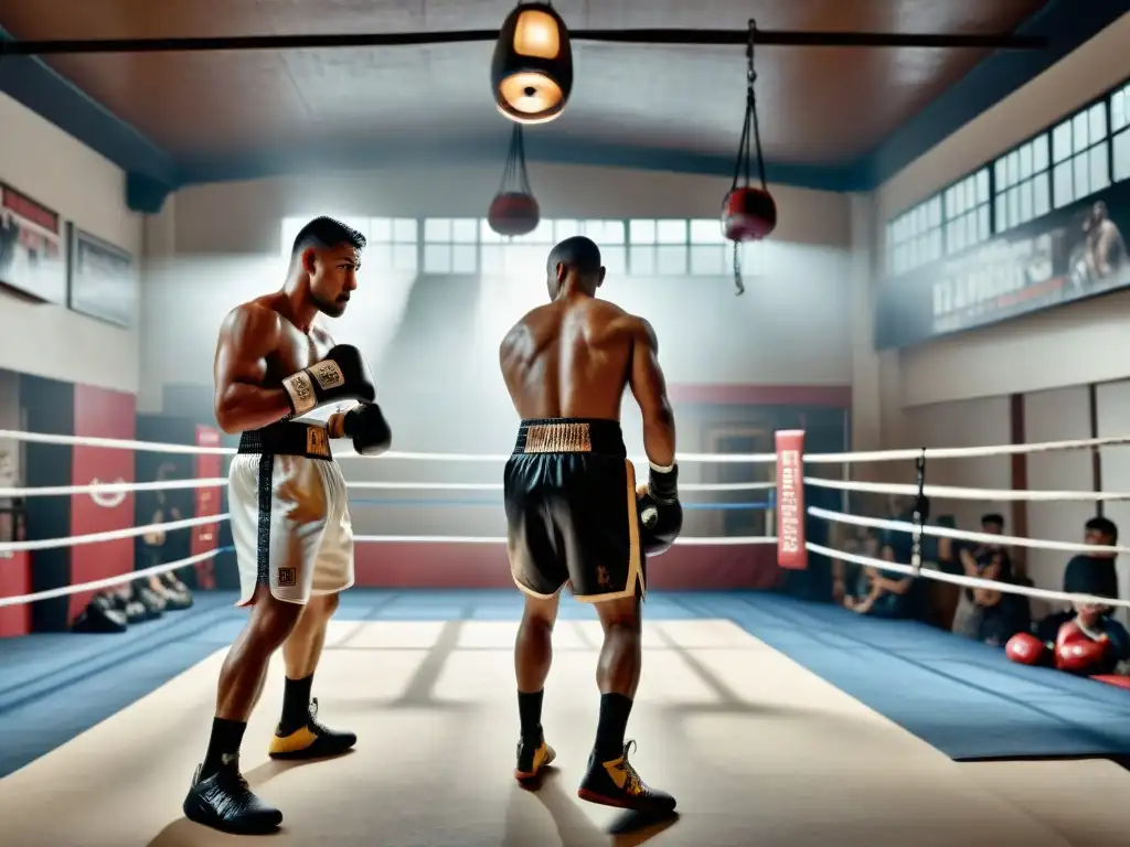
[[[878,350],[986,326],[1130,286],[1130,182],[886,280]]]

